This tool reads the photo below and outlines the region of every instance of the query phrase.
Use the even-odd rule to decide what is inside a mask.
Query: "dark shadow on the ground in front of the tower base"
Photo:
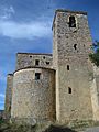
[[[76,132],[69,128],[54,127],[51,125],[45,132]]]

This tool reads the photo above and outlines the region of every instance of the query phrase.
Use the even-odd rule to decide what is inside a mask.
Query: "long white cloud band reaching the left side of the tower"
[[[13,21],[0,21],[0,35],[11,38],[45,37],[51,35],[51,23],[29,22],[16,23]]]

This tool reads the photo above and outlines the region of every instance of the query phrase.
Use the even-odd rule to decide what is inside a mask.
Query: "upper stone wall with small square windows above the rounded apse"
[[[36,64],[37,61],[37,64]],[[16,69],[24,67],[52,67],[52,54],[18,53]]]

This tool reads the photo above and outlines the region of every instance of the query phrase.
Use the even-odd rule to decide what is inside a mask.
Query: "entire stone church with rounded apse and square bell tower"
[[[99,120],[99,69],[89,59],[87,12],[56,10],[53,54],[18,53],[8,75],[6,118],[14,120]]]

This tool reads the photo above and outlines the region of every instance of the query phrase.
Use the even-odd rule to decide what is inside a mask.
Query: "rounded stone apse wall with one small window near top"
[[[41,73],[35,79],[35,73]],[[25,68],[14,73],[11,118],[55,120],[55,72]]]

